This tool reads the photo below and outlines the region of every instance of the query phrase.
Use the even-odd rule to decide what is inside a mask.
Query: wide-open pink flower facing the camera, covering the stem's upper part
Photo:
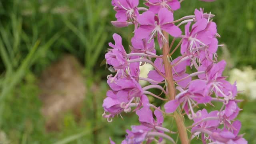
[[[155,16],[153,12],[147,11],[137,18],[140,27],[135,30],[134,38],[143,39],[150,37],[151,40],[154,35],[158,36],[158,43],[162,48],[162,39],[164,38],[162,30],[168,32],[171,36],[178,37],[181,34],[180,28],[172,24],[173,14],[166,8],[162,8]]]

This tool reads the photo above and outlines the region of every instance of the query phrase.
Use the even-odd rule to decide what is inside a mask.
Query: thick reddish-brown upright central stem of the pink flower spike
[[[175,95],[176,95],[176,90],[175,90],[175,85],[174,85],[174,80],[172,77],[172,66],[169,62],[169,34],[167,32],[164,32],[164,37],[166,38],[167,42],[164,42],[163,46],[163,61],[164,61],[164,69],[166,73],[166,82],[167,82],[167,88],[168,88],[168,99],[169,100],[174,100]],[[178,112],[179,111],[179,112]],[[182,117],[182,114],[180,112],[180,108],[178,108],[178,111],[176,110],[174,112],[174,118],[177,124],[179,136],[180,136],[180,141],[182,144],[188,144],[188,134],[186,132],[186,126],[184,124],[184,120]]]

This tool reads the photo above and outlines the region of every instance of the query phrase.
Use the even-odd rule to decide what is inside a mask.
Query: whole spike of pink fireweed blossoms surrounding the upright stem
[[[109,43],[111,48],[105,58],[114,74],[108,76],[110,90],[103,102],[102,116],[111,122],[115,116],[122,117],[123,112],[136,112],[140,125],[126,130],[122,144],[141,144],[144,141],[147,144],[160,143],[163,138],[175,143],[171,135],[176,132],[164,128],[162,124],[164,116],[172,115],[177,108],[181,108],[184,115],[194,121],[194,124],[186,127],[192,133],[191,139],[200,136],[204,144],[247,144],[243,135],[238,134],[241,122],[235,120],[241,110],[238,107],[241,100],[236,100],[236,84],[230,84],[222,76],[226,62],[217,61],[216,51],[220,45],[216,23],[211,19],[214,15],[196,9],[194,15],[174,20],[173,15],[180,8],[182,0],[145,1],[148,8],[138,7],[139,0],[112,0],[117,19],[112,24],[116,27],[134,25],[134,37],[129,54],[122,45],[120,35],[114,34],[115,44]],[[185,26],[184,34],[180,29],[182,25]],[[164,32],[174,40],[180,39],[178,46],[168,55],[176,89],[174,99],[162,98],[149,91],[155,88],[166,96],[169,94],[165,87],[167,70],[164,57],[156,54],[154,42],[156,38],[162,49],[164,43],[169,41]],[[173,52],[179,47],[181,55],[173,58]],[[145,63],[154,67],[148,73],[148,78],[140,77],[140,65]],[[196,72],[188,73],[187,68],[193,68]],[[142,87],[139,80],[148,81],[150,85]],[[150,104],[149,95],[165,101],[164,110]],[[207,104],[214,106],[216,102],[222,104],[220,110],[208,113],[206,109],[196,108]],[[114,144],[111,139],[110,142]]]

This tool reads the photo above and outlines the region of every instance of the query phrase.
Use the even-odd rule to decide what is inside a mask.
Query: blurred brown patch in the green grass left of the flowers
[[[48,131],[59,129],[65,112],[72,111],[79,120],[86,92],[81,69],[74,56],[66,55],[42,73],[39,84],[41,112]]]

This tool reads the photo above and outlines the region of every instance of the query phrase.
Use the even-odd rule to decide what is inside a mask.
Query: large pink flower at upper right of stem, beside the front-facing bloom
[[[216,39],[216,24],[204,18],[203,10],[195,10],[196,23],[188,22],[185,26],[185,36],[181,45],[181,54],[199,58],[203,64],[212,63],[213,55],[216,56],[218,40]]]

